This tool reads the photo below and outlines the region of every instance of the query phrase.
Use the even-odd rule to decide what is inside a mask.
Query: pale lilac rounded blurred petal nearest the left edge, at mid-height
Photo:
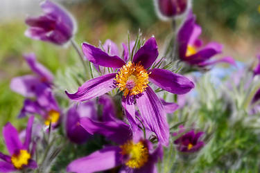
[[[24,97],[34,97],[35,89],[38,84],[41,84],[39,78],[34,75],[24,75],[17,78],[12,78],[10,88]]]

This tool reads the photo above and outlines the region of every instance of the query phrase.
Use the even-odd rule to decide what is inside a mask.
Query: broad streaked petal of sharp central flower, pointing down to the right
[[[150,88],[137,98],[137,105],[141,113],[141,118],[144,120],[149,129],[157,135],[160,143],[168,145],[169,129],[166,120],[166,112],[159,98]]]

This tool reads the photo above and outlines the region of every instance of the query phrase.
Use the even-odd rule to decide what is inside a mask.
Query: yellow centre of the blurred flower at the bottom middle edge
[[[129,157],[128,161],[125,163],[131,168],[140,168],[148,161],[148,148],[143,142],[133,143],[132,140],[120,146],[122,155],[127,155]]]

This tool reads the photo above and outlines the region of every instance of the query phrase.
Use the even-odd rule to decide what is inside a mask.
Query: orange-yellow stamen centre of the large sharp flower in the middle
[[[116,74],[116,86],[123,91],[123,95],[137,95],[146,91],[148,73],[140,63],[128,62]]]

